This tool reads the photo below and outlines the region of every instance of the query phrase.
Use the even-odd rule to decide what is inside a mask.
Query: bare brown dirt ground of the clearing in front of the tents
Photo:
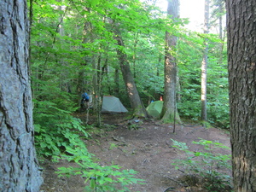
[[[77,114],[85,119],[84,113]],[[187,143],[190,151],[199,151],[201,146],[192,144],[201,138],[217,141],[230,147],[228,131],[217,128],[204,128],[201,125],[176,125],[173,133],[172,124],[160,124],[151,119],[138,119],[132,122],[125,113],[102,114],[105,128],[91,134],[86,140],[90,153],[95,154],[101,165],[110,166],[112,163],[124,169],[137,171],[137,178],[144,180],[143,185],[134,184],[129,187],[131,192],[166,192],[166,191],[207,191],[201,188],[202,183],[194,187],[186,186],[186,170],[176,170],[172,166],[174,160],[183,160],[186,154],[172,147],[172,140]],[[93,119],[90,119],[93,121]],[[90,123],[93,123],[93,122]],[[134,129],[136,128],[136,129]],[[216,153],[230,154],[230,149],[218,148]],[[54,163],[44,160],[44,184],[41,192],[82,192],[84,179],[79,176],[57,177],[55,173],[60,166],[73,166],[73,163],[60,161]],[[207,169],[207,167],[206,167]],[[228,174],[231,174],[230,172]],[[171,190],[172,187],[172,190]],[[170,188],[170,190],[168,190]]]

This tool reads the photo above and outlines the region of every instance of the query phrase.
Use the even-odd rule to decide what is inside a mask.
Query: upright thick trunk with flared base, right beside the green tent
[[[179,0],[168,0],[167,8],[168,17],[175,20],[179,17]],[[161,112],[161,120],[166,122],[180,123],[179,114],[177,113],[176,101],[176,79],[177,79],[177,60],[176,60],[177,37],[166,32],[166,56],[165,56],[165,92],[164,105]]]

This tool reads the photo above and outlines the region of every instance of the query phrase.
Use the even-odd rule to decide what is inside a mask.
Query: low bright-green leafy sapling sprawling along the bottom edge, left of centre
[[[78,167],[60,167],[59,177],[80,175],[87,183],[85,191],[127,191],[127,186],[141,183],[143,180],[134,177],[134,170],[120,170],[119,166],[100,166],[94,162],[86,147],[79,143],[77,148],[67,148],[67,153],[62,159],[75,162]]]

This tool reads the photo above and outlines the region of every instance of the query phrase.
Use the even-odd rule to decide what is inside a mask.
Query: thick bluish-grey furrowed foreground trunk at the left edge
[[[39,191],[26,1],[0,2],[0,191]]]

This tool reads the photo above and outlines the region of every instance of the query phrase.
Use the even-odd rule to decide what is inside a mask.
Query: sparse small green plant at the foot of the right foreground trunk
[[[201,179],[201,184],[208,191],[231,191],[231,177],[228,173],[230,166],[230,155],[216,154],[216,148],[228,148],[222,143],[201,139],[193,142],[204,147],[201,151],[190,151],[186,143],[180,143],[172,139],[172,147],[185,152],[186,159],[176,160],[172,163],[178,170],[186,170],[186,177],[189,177],[190,185],[196,185]],[[221,168],[221,169],[220,169]],[[191,182],[194,181],[194,182]],[[186,180],[188,184],[188,179]]]

